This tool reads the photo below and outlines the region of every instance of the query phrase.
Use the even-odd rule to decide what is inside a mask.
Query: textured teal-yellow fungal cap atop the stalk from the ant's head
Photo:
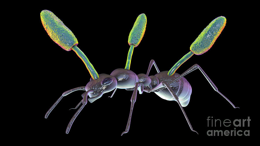
[[[44,29],[51,39],[66,51],[72,46],[77,46],[78,40],[63,22],[49,10],[43,10],[40,14]]]

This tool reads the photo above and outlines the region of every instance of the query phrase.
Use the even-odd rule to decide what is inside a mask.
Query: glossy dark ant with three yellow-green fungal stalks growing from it
[[[163,71],[160,72],[155,61],[152,59],[150,61],[150,64],[148,66],[148,70],[146,74],[135,74],[130,69],[131,64],[131,57],[133,54],[133,49],[139,45],[141,42],[145,29],[146,29],[146,23],[147,18],[145,14],[140,14],[138,18],[136,19],[134,26],[132,30],[130,31],[129,38],[128,38],[128,44],[130,45],[128,56],[127,56],[127,62],[125,65],[125,68],[118,68],[114,70],[110,75],[108,74],[98,74],[93,67],[93,65],[90,63],[86,55],[77,47],[78,41],[75,35],[68,29],[63,22],[55,16],[51,11],[49,10],[43,10],[40,13],[42,25],[44,29],[47,31],[48,35],[51,37],[51,39],[57,43],[59,46],[61,46],[64,50],[70,51],[73,50],[79,58],[83,61],[83,63],[86,65],[86,68],[88,69],[90,73],[90,81],[87,83],[86,86],[77,87],[71,90],[68,90],[60,96],[60,98],[53,104],[53,106],[49,109],[49,111],[46,113],[45,118],[48,117],[48,115],[51,113],[53,108],[60,102],[60,100],[78,90],[84,90],[85,92],[82,94],[82,100],[79,102],[79,104],[73,108],[77,109],[81,103],[81,107],[78,109],[78,111],[75,113],[75,115],[70,120],[68,127],[66,129],[66,134],[69,133],[70,128],[75,120],[75,118],[79,115],[81,110],[84,108],[84,106],[89,101],[90,103],[94,102],[95,100],[101,98],[101,96],[104,93],[110,92],[114,90],[112,93],[111,98],[113,97],[116,89],[126,89],[126,90],[133,90],[133,95],[131,97],[131,108],[130,108],[130,114],[127,122],[127,126],[124,132],[122,132],[121,136],[124,133],[127,133],[130,128],[130,122],[133,112],[133,106],[136,101],[137,91],[139,91],[140,94],[143,92],[155,92],[159,97],[165,99],[165,100],[174,100],[176,101],[182,112],[185,116],[187,123],[190,126],[190,129],[194,132],[190,121],[183,110],[183,107],[187,106],[190,102],[190,95],[192,93],[192,88],[190,86],[190,83],[183,77],[190,72],[199,69],[201,73],[205,76],[209,84],[213,87],[215,91],[217,91],[221,96],[223,96],[234,108],[234,104],[229,101],[228,98],[226,98],[222,93],[218,91],[218,88],[214,85],[214,83],[210,80],[210,78],[207,76],[207,74],[203,71],[203,69],[195,64],[182,74],[177,74],[176,70],[180,67],[181,64],[183,64],[187,59],[192,57],[192,55],[201,55],[205,52],[207,52],[211,46],[214,44],[222,30],[224,29],[226,25],[226,18],[223,16],[220,16],[216,19],[214,19],[198,36],[198,38],[192,43],[190,46],[190,52],[184,55],[169,71]],[[155,69],[157,70],[157,74],[154,76],[148,76],[149,72],[154,65]],[[89,98],[88,98],[89,96]],[[110,97],[110,96],[109,96]],[[197,132],[196,132],[197,133]]]

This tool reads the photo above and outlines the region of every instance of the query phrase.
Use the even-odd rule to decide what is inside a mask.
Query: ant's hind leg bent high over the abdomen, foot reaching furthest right
[[[220,93],[220,91],[218,91],[218,88],[214,85],[214,83],[211,81],[211,79],[207,76],[207,74],[202,70],[202,68],[198,65],[198,64],[194,64],[191,68],[189,68],[188,70],[186,70],[185,72],[183,72],[180,76],[178,76],[178,78],[176,78],[174,81],[172,81],[170,84],[172,84],[173,82],[179,80],[181,77],[185,76],[186,74],[189,74],[190,72],[199,69],[201,71],[201,73],[205,76],[205,78],[207,79],[207,81],[209,82],[209,84],[211,85],[211,87],[217,91],[221,96],[223,96],[232,106],[233,108],[239,108],[239,107],[235,107],[234,104],[228,99],[226,98],[222,93]],[[170,85],[169,84],[169,85]],[[161,89],[162,90],[162,89]]]

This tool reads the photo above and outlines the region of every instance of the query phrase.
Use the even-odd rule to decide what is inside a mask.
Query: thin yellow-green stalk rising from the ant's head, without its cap
[[[72,50],[78,55],[78,57],[86,65],[88,72],[89,72],[90,76],[93,78],[93,80],[99,78],[99,74],[96,72],[94,66],[90,63],[90,61],[88,60],[86,55],[77,46],[73,46]]]

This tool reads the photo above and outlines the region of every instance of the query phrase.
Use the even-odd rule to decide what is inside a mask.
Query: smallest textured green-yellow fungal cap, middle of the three
[[[144,36],[144,31],[146,28],[146,23],[147,23],[147,18],[146,15],[140,14],[137,19],[135,20],[134,26],[132,30],[130,31],[129,37],[128,37],[128,44],[134,45],[137,47],[139,43],[141,42],[143,36]]]

